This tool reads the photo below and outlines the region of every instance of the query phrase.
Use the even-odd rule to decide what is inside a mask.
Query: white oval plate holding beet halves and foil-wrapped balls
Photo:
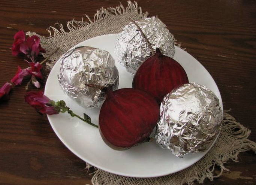
[[[92,46],[104,49],[115,58],[114,48],[117,34],[94,37],[76,46]],[[174,59],[187,72],[189,81],[197,82],[210,88],[220,100],[219,89],[207,70],[190,54],[175,47]],[[119,71],[119,88],[132,87],[133,75],[119,63],[115,63]],[[75,113],[87,113],[92,122],[98,124],[100,109],[84,109],[63,93],[57,80],[60,61],[54,65],[45,85],[45,95],[52,100],[64,100]],[[223,110],[223,107],[222,107]],[[60,140],[70,151],[82,160],[107,172],[131,177],[156,177],[183,170],[201,159],[207,152],[188,154],[183,159],[177,158],[167,149],[162,149],[156,142],[143,143],[126,151],[115,151],[109,148],[100,137],[99,130],[78,118],[71,118],[67,113],[48,115],[49,122]]]

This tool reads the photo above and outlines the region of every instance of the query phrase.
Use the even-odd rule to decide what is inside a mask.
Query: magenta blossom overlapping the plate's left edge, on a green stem
[[[60,108],[55,107],[52,101],[42,91],[28,92],[25,94],[25,102],[42,114],[52,115],[60,113]]]

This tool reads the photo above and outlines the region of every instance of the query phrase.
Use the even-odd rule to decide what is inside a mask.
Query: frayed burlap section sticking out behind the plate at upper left
[[[115,8],[109,7],[105,9],[102,7],[97,10],[93,19],[85,15],[87,21],[84,21],[84,18],[81,21],[68,21],[68,31],[64,30],[62,24],[56,23],[53,27],[50,26],[47,29],[49,37],[40,36],[30,31],[26,34],[40,37],[40,44],[46,50],[46,53],[43,54],[45,58],[49,57],[53,51],[59,48],[56,54],[49,57],[50,62],[46,63],[47,69],[51,69],[58,58],[76,44],[96,36],[120,33],[124,25],[130,22],[130,19],[139,20],[147,17],[148,12],[142,13],[141,7],[138,7],[136,1],[132,3],[129,0],[127,3],[126,8],[121,3],[120,6]]]

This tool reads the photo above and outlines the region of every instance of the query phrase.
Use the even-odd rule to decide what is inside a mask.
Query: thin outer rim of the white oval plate
[[[105,34],[105,35],[96,36],[96,37],[116,36],[116,35],[118,35],[118,33],[115,33],[115,34]],[[88,41],[88,40],[91,40],[91,39],[95,39],[96,37],[93,37],[93,38],[84,40],[84,41],[82,41],[82,42],[85,42],[85,41]],[[82,42],[76,44],[76,45],[73,46],[72,48],[77,47],[77,46],[80,45]],[[72,49],[72,48],[70,48],[70,49]],[[177,47],[177,46],[175,46],[175,50],[176,50],[176,49],[180,49],[180,50],[182,50],[183,52],[185,52],[186,54],[188,54],[190,57],[194,58],[194,59],[199,63],[199,65],[201,65],[201,67],[203,67],[204,70],[208,72],[208,70],[205,69],[205,67],[204,67],[195,57],[193,57],[193,56],[190,55],[188,52],[184,51],[183,49],[181,49],[181,48],[179,48],[179,47]],[[69,50],[69,49],[68,49],[68,50]],[[68,51],[68,50],[67,50],[67,51]],[[64,53],[64,54],[65,54],[65,53]],[[63,55],[64,55],[64,54],[63,54]],[[63,55],[62,55],[61,57],[63,57]],[[61,57],[60,57],[60,58],[61,58]],[[56,63],[60,60],[60,58],[56,61]],[[56,64],[56,63],[55,63],[55,64]],[[55,64],[54,64],[54,66],[52,67],[52,69],[55,67]],[[52,71],[52,70],[51,70],[51,71]],[[50,73],[51,73],[51,72],[50,72]],[[208,73],[209,73],[209,72],[208,72]],[[210,75],[210,78],[214,81],[214,79],[213,79],[213,77],[211,76],[210,73],[209,73],[209,75]],[[218,88],[218,86],[217,86],[217,84],[216,84],[215,81],[214,81],[214,83],[215,83],[215,85],[216,85],[216,87],[217,87],[217,93],[219,94],[219,97],[220,97],[220,100],[219,100],[219,101],[221,102],[221,106],[222,106],[222,110],[223,110],[222,97],[221,97],[219,88]],[[47,84],[48,84],[48,79],[47,79],[47,81],[46,81],[46,83],[45,83],[45,90],[47,89],[47,88],[46,88],[46,87],[47,87]],[[45,92],[45,91],[44,91],[44,92]],[[198,162],[199,160],[201,160],[201,158],[204,157],[204,156],[209,152],[209,150],[212,148],[212,146],[213,146],[214,143],[216,142],[217,138],[219,137],[219,134],[218,134],[217,137],[216,137],[216,139],[214,140],[213,144],[211,145],[211,147],[210,147],[209,149],[207,149],[207,151],[202,152],[202,153],[205,153],[205,154],[202,155],[201,157],[199,157],[197,161],[195,161],[194,163],[191,163],[189,166],[183,167],[183,168],[178,169],[178,170],[176,170],[176,171],[173,171],[173,172],[171,172],[171,173],[170,173],[170,172],[166,172],[166,173],[161,173],[161,174],[156,174],[156,175],[138,175],[138,176],[136,176],[136,175],[127,175],[127,174],[125,174],[125,173],[117,172],[117,171],[115,171],[115,170],[109,170],[109,169],[106,169],[105,167],[99,166],[99,165],[97,165],[97,164],[94,164],[94,163],[91,163],[91,162],[90,162],[90,163],[87,162],[87,161],[85,160],[85,158],[82,157],[82,155],[78,154],[72,147],[70,147],[70,146],[66,143],[65,139],[60,136],[59,132],[58,132],[57,129],[54,127],[54,124],[53,124],[53,122],[51,121],[51,115],[47,115],[47,118],[48,118],[49,123],[51,124],[52,129],[54,130],[55,134],[57,135],[58,139],[60,139],[60,141],[61,141],[73,154],[75,154],[75,155],[76,155],[77,157],[79,157],[81,160],[85,161],[85,163],[91,164],[91,165],[93,165],[94,167],[97,167],[98,169],[104,170],[104,171],[109,172],[109,173],[113,173],[113,174],[121,175],[121,176],[127,176],[127,177],[134,177],[134,178],[154,178],[154,177],[159,177],[159,176],[170,175],[170,174],[179,172],[179,171],[181,171],[181,170],[184,170],[184,169],[186,169],[186,168],[192,166],[193,164],[195,164],[195,163]]]

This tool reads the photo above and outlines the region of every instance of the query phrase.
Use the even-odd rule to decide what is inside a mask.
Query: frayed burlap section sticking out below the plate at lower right
[[[228,160],[237,161],[240,152],[248,150],[256,152],[256,143],[247,139],[250,132],[248,128],[237,122],[234,117],[224,113],[222,130],[216,143],[201,160],[187,169],[157,178],[131,178],[96,169],[91,182],[94,185],[181,185],[193,184],[194,181],[203,183],[205,178],[213,181],[213,178],[222,175],[223,170],[229,171],[224,166]],[[216,166],[221,169],[219,174],[214,171]],[[90,167],[92,166],[87,164],[86,168]]]

